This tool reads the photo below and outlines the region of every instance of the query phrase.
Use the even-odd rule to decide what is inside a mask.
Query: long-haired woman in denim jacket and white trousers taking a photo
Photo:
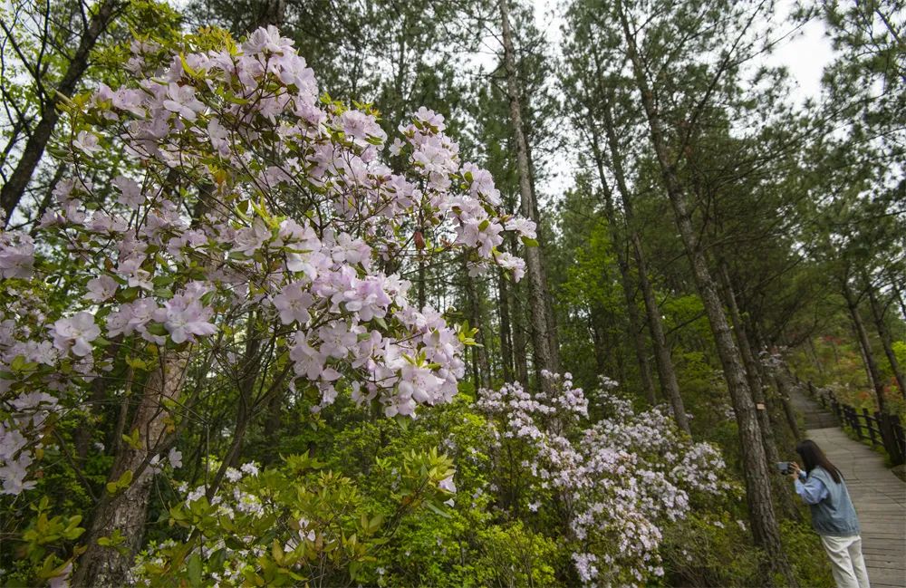
[[[812,509],[812,525],[821,535],[838,588],[870,588],[862,555],[859,519],[843,475],[817,444],[806,439],[795,448],[805,471],[790,464],[796,494]]]

